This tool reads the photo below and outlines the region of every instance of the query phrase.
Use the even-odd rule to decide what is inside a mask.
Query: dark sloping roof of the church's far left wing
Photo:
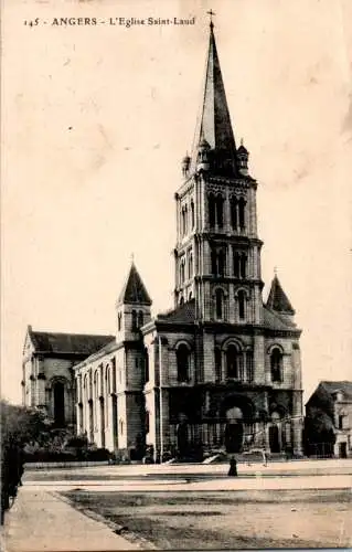
[[[56,333],[29,330],[35,352],[89,355],[115,340],[114,336]]]

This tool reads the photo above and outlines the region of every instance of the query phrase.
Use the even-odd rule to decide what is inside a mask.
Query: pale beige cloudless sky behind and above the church
[[[235,137],[258,180],[264,298],[277,267],[303,330],[306,401],[320,380],[351,380],[352,2],[6,0],[1,392],[12,402],[26,326],[114,333],[131,254],[153,312],[172,307],[173,194],[210,8]],[[52,24],[78,17],[106,23]],[[108,24],[118,17],[195,24]]]

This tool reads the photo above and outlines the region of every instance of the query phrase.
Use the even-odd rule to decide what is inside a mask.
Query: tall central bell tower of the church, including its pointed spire
[[[195,139],[175,193],[174,300],[194,299],[199,321],[263,321],[263,243],[248,157],[243,141],[236,148],[211,20]]]

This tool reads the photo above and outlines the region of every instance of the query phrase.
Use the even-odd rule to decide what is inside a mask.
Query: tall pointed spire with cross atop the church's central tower
[[[213,14],[211,12],[211,15]],[[191,172],[196,170],[200,146],[201,150],[206,149],[209,151],[211,166],[216,172],[236,176],[238,172],[236,145],[217,56],[212,19],[210,23],[203,98],[191,156]]]

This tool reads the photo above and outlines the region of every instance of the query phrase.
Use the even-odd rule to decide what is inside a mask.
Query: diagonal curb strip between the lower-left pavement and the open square
[[[82,490],[82,489],[73,489],[74,490]],[[94,521],[99,521],[100,523],[104,523],[104,526],[108,527],[114,533],[118,534],[119,537],[126,539],[127,541],[138,544],[141,550],[159,550],[158,546],[156,546],[152,542],[148,541],[147,539],[143,539],[140,537],[138,533],[135,533],[134,531],[130,531],[128,527],[126,526],[120,526],[119,523],[116,523],[115,521],[111,521],[109,519],[104,518],[100,513],[95,512],[94,510],[90,510],[89,508],[85,508],[83,506],[79,506],[77,502],[74,500],[71,500],[68,497],[61,495],[57,491],[49,491],[52,496],[57,498],[58,500],[62,500],[63,502],[67,503],[78,512],[83,513],[87,518],[93,519]]]

